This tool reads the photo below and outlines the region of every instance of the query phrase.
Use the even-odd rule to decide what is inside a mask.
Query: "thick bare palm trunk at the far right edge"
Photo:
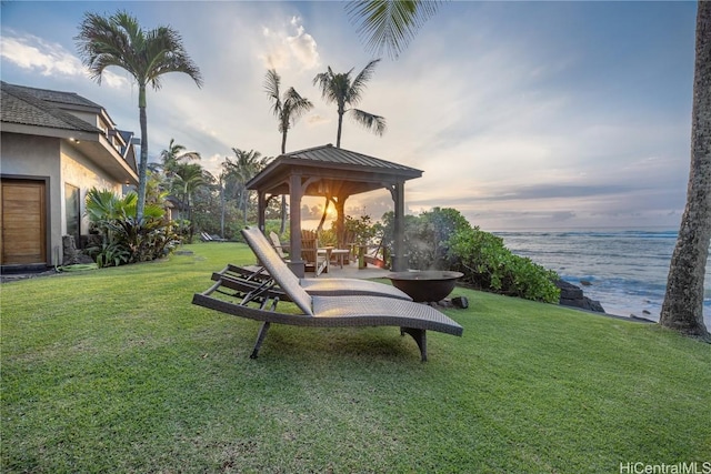
[[[711,341],[703,324],[703,280],[711,243],[711,2],[699,1],[698,8],[687,208],[659,322]]]

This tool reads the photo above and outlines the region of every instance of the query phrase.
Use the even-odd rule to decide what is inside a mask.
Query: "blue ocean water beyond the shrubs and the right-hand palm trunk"
[[[513,253],[581,286],[605,312],[659,321],[677,231],[591,230],[494,232]],[[704,280],[703,315],[711,330],[711,256]],[[591,284],[583,286],[581,281]]]

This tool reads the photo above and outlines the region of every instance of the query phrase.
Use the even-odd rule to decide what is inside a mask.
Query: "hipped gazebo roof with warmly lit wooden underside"
[[[349,196],[420,178],[422,171],[329,143],[277,157],[247,188],[288,194],[294,174],[306,179],[303,195]]]

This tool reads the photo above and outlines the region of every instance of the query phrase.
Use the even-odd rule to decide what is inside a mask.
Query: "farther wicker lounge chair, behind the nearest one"
[[[371,296],[387,296],[395,297],[400,300],[412,301],[412,299],[404,292],[397,288],[378,283],[369,282],[358,279],[299,279],[294,275],[284,261],[277,254],[271,243],[267,240],[264,234],[257,228],[247,228],[242,230],[242,236],[247,241],[247,244],[252,249],[254,254],[264,264],[269,262],[270,268],[274,269],[279,273],[280,279],[289,279],[300,284],[307,293],[310,295],[319,296],[346,296],[346,295],[371,295]],[[222,279],[224,284],[229,285],[237,281],[239,286],[234,290],[242,290],[251,286],[252,289],[264,283],[267,279],[274,278],[271,271],[264,271],[262,266],[237,266],[227,265],[219,273],[213,273],[212,279]],[[248,285],[248,286],[244,286]],[[272,289],[276,291],[277,289]],[[284,293],[282,299],[289,299],[289,295]]]

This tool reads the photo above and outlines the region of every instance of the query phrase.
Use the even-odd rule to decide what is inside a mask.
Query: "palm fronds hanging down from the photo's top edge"
[[[439,8],[438,0],[354,0],[346,6],[358,34],[374,56],[388,49],[397,59]]]

